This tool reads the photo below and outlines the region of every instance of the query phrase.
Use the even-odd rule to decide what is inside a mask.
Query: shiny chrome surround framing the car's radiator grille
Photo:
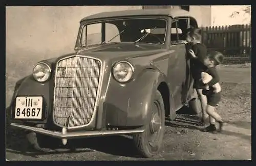
[[[72,128],[81,128],[81,127],[85,127],[85,126],[89,126],[91,125],[91,123],[93,122],[93,120],[96,118],[96,108],[98,106],[98,103],[99,103],[99,95],[101,93],[101,88],[102,88],[102,79],[103,79],[103,69],[105,68],[105,64],[103,64],[103,62],[100,60],[100,59],[97,59],[97,58],[94,58],[94,57],[89,57],[89,56],[82,56],[82,55],[79,55],[79,54],[74,54],[72,56],[68,56],[68,57],[65,57],[65,58],[62,58],[62,59],[59,59],[56,63],[56,67],[55,67],[55,72],[57,71],[57,68],[58,68],[58,63],[59,61],[62,61],[62,60],[65,60],[65,59],[69,59],[69,58],[72,58],[72,57],[83,57],[83,58],[89,58],[89,59],[94,59],[94,60],[97,60],[100,62],[100,75],[99,75],[99,84],[98,84],[98,90],[97,90],[97,95],[96,95],[96,100],[95,100],[95,106],[94,106],[94,110],[93,110],[93,115],[92,115],[92,118],[91,118],[91,121],[86,124],[86,125],[81,125],[81,126],[75,126],[75,127],[67,127],[67,129],[72,129]],[[53,97],[53,122],[54,124],[56,124],[57,126],[59,127],[65,127],[65,126],[61,126],[57,123],[55,123],[54,121],[54,108],[55,108],[55,90],[56,90],[56,77],[57,77],[57,74],[55,73],[55,76],[54,76],[54,97]]]

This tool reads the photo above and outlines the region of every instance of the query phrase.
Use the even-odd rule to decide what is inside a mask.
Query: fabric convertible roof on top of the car
[[[96,18],[110,18],[110,17],[121,17],[121,16],[170,16],[172,18],[181,16],[190,16],[191,14],[182,9],[139,9],[139,10],[124,10],[124,11],[114,11],[114,12],[102,12],[93,14],[81,19],[80,22],[84,20],[91,20]]]

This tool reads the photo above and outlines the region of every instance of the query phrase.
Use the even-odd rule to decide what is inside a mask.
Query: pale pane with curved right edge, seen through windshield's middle
[[[105,24],[105,41],[108,42],[113,37],[115,37],[117,34],[119,34],[119,30],[116,25],[112,23],[106,23]],[[111,42],[120,42],[120,36],[115,37]]]

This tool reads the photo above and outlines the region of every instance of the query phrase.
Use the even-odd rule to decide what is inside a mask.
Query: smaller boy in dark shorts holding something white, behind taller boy
[[[193,58],[197,59],[197,56],[193,51],[189,50],[189,52]],[[215,106],[221,100],[220,77],[216,70],[216,66],[221,64],[222,61],[223,55],[218,51],[207,53],[207,56],[203,60],[204,65],[207,66],[208,69],[201,72],[201,80],[205,86],[202,93],[207,98],[206,113],[210,116],[210,125],[203,131],[216,131],[215,121],[219,122],[219,131],[221,131],[225,123],[221,116],[215,112]],[[214,121],[211,119],[214,119]]]

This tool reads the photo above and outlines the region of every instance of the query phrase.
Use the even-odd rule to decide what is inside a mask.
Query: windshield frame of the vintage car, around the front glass
[[[159,16],[151,16],[151,15],[147,15],[147,16],[122,16],[122,17],[109,17],[109,18],[97,18],[97,19],[89,19],[89,20],[83,20],[83,21],[80,21],[80,25],[79,25],[79,29],[78,29],[78,34],[77,34],[77,38],[76,38],[76,42],[75,42],[75,48],[74,50],[79,50],[79,49],[82,49],[82,48],[87,48],[87,47],[94,47],[94,46],[98,46],[98,45],[101,45],[101,44],[95,44],[95,45],[90,45],[90,46],[87,46],[87,47],[81,47],[80,46],[80,42],[81,42],[81,35],[82,35],[82,29],[85,25],[88,25],[88,24],[93,24],[93,23],[97,23],[97,22],[101,22],[101,21],[109,21],[109,20],[115,20],[115,19],[139,19],[139,18],[143,18],[143,19],[163,19],[166,21],[166,34],[165,34],[165,40],[164,40],[164,43],[162,45],[157,45],[157,46],[160,46],[160,47],[166,47],[167,46],[167,41],[168,41],[168,29],[169,29],[169,18],[168,16],[162,16],[162,15],[159,15]]]

